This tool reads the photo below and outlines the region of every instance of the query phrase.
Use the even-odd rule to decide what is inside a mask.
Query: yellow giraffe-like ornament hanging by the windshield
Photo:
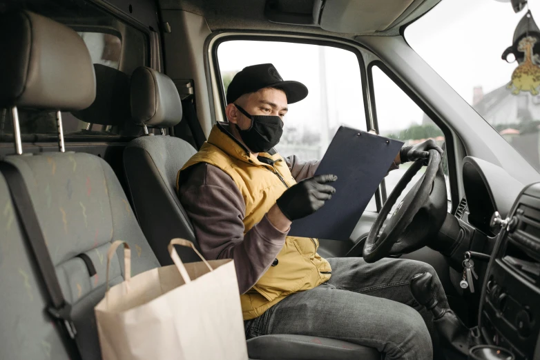
[[[533,95],[539,94],[537,88],[540,86],[540,66],[532,62],[532,48],[537,43],[534,37],[525,37],[519,41],[517,50],[525,54],[525,61],[512,72],[512,81],[507,88],[513,89],[512,94],[517,95],[521,91],[529,91]]]

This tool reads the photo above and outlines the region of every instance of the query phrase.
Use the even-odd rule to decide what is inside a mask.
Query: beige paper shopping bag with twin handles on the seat
[[[131,277],[131,250],[124,246],[125,280],[108,289],[95,307],[104,360],[247,359],[240,292],[231,259],[206,261],[193,243],[173,239],[174,265]],[[201,257],[182,263],[173,245],[191,246]]]

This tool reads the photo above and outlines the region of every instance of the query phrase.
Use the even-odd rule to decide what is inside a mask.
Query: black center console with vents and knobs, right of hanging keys
[[[479,311],[483,342],[540,359],[540,183],[525,188],[499,233]]]

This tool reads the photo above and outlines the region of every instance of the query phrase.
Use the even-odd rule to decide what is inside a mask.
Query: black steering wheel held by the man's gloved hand
[[[363,257],[374,263],[383,257],[412,252],[429,245],[447,214],[446,183],[441,154],[430,150],[425,173],[412,187],[383,228],[392,206],[414,175],[423,167],[418,160],[405,172],[380,210],[365,242]],[[381,228],[383,231],[380,233]],[[380,233],[380,234],[379,234]]]

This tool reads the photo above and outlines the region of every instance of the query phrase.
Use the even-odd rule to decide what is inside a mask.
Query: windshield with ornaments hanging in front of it
[[[510,0],[443,0],[405,39],[540,172],[537,24],[540,1],[516,13]]]

